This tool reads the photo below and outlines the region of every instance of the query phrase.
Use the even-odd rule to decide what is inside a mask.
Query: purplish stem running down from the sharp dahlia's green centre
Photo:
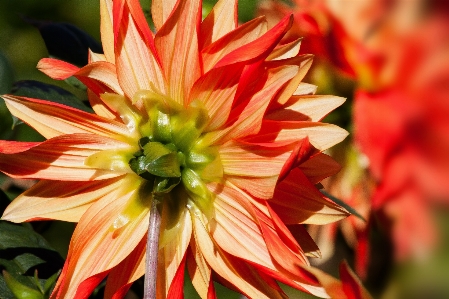
[[[161,215],[157,209],[159,200],[153,196],[150,209],[150,223],[147,236],[147,253],[145,263],[144,299],[156,299],[157,256],[159,251],[159,233]]]

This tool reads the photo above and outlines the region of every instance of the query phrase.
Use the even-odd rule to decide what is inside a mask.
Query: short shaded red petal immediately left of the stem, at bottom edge
[[[146,241],[144,236],[136,248],[109,272],[105,299],[123,298],[131,284],[145,274]]]

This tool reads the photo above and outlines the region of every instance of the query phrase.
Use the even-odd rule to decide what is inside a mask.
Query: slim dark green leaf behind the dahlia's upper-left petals
[[[87,107],[75,95],[61,87],[42,83],[34,80],[24,80],[14,83],[13,95],[23,96],[41,100],[47,100],[54,103],[70,106],[86,112],[93,112],[92,108]]]

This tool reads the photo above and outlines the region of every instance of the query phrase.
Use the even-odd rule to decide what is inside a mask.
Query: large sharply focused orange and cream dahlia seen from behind
[[[104,54],[78,68],[42,59],[54,79],[75,76],[95,113],[5,95],[44,142],[0,142],[0,170],[40,180],[3,220],[78,222],[52,298],[124,296],[145,273],[150,206],[161,228],[157,298],[182,295],[184,270],[202,298],[213,279],[249,298],[284,298],[277,281],[327,297],[302,224],[347,216],[316,188],[339,167],[322,151],[347,132],[319,122],[343,99],[302,83],[310,55],[292,25],[237,24],[237,1],[201,19],[201,1],[152,1],[155,34],[137,0],[101,0]],[[340,297],[343,298],[343,297]]]

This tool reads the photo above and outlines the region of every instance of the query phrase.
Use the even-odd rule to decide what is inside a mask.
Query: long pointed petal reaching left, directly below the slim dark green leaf
[[[47,139],[76,133],[128,139],[129,130],[123,123],[49,101],[11,95],[2,97],[14,116]]]

